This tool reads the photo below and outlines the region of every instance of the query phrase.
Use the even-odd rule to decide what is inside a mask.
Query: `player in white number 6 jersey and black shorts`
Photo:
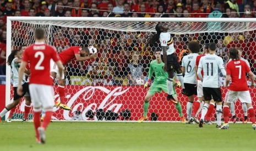
[[[194,95],[197,95],[197,78],[195,78],[195,61],[200,51],[200,46],[198,42],[189,42],[188,43],[189,55],[184,56],[182,59],[182,71],[185,74],[184,77],[184,86],[188,96],[187,102],[187,119],[190,120],[190,123],[195,121],[199,123],[198,119],[195,118],[195,114],[192,114],[192,106],[194,102]]]

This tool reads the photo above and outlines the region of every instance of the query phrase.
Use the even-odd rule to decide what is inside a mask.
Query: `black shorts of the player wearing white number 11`
[[[210,101],[211,98],[215,102],[222,102],[221,89],[220,88],[209,88],[203,87],[204,100]]]

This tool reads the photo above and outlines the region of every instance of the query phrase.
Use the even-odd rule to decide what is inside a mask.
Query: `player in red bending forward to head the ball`
[[[67,65],[68,62],[70,62],[71,60],[75,59],[77,61],[85,61],[88,59],[92,59],[94,57],[96,57],[95,54],[89,55],[89,49],[87,47],[79,47],[79,46],[74,46],[74,47],[69,47],[68,49],[62,51],[61,53],[58,54],[59,58],[62,62],[63,65]],[[55,82],[55,77],[56,75],[58,75],[58,68],[56,68],[56,64],[54,62],[51,62],[51,78],[54,80]],[[63,84],[60,84],[63,83]],[[62,73],[62,77],[60,80],[57,80],[58,83],[58,94],[59,94],[59,98],[61,100],[62,103],[66,103],[65,100],[65,87],[64,87],[64,83],[65,83],[65,79],[64,79],[64,73]],[[55,102],[56,106],[59,106],[60,108],[66,109],[66,110],[70,110],[71,108],[68,107],[66,104],[62,104],[61,102]]]

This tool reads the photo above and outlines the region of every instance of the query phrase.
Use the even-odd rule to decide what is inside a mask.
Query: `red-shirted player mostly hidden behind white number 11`
[[[204,44],[203,46],[203,54],[197,56],[197,60],[195,61],[195,73],[197,73],[198,70],[198,65],[199,65],[199,61],[201,59],[201,57],[205,56],[206,54],[209,53],[209,44]],[[203,71],[201,72],[202,75],[204,75]],[[197,116],[200,113],[201,109],[204,106],[204,94],[203,94],[203,86],[202,86],[202,82],[201,80],[198,78],[197,74],[195,74],[195,77],[197,77],[197,97],[198,100],[194,102],[194,107],[193,107],[193,111],[192,111],[192,117],[194,117],[195,122],[197,122]],[[190,104],[190,106],[193,106],[193,104]],[[208,111],[205,115],[205,124],[212,124],[210,121],[210,116],[213,112],[214,109],[214,101],[213,99],[210,102],[210,106],[208,108]],[[190,121],[191,122],[191,121]]]

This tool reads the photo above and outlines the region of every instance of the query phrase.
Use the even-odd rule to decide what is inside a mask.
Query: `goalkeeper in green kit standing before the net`
[[[143,114],[143,117],[141,117],[139,119],[139,121],[138,121],[139,123],[148,119],[148,116],[146,114],[148,113],[150,98],[152,96],[154,96],[156,92],[161,92],[162,90],[167,93],[166,79],[168,77],[168,74],[166,72],[164,72],[164,69],[162,68],[165,65],[165,63],[162,62],[162,60],[161,60],[161,49],[155,50],[155,57],[156,57],[156,60],[153,60],[150,62],[149,79],[148,79],[148,82],[146,82],[144,88],[146,89],[147,87],[150,86],[151,77],[152,77],[153,72],[155,72],[155,79],[154,79],[154,82],[152,83],[148,93],[145,96],[144,107],[143,107],[144,114]],[[173,80],[173,81],[175,81],[175,80]],[[179,86],[181,85],[180,83],[177,83],[177,84],[179,84]],[[173,87],[174,86],[175,86],[175,84],[173,84]],[[186,119],[183,117],[183,114],[182,114],[181,103],[179,103],[179,101],[178,101],[175,88],[173,88],[173,90],[172,90],[172,95],[173,95],[173,98],[175,98],[175,101],[172,101],[172,100],[170,100],[170,101],[172,101],[175,104],[176,109],[179,112],[179,117],[181,117],[182,123],[186,123]]]

